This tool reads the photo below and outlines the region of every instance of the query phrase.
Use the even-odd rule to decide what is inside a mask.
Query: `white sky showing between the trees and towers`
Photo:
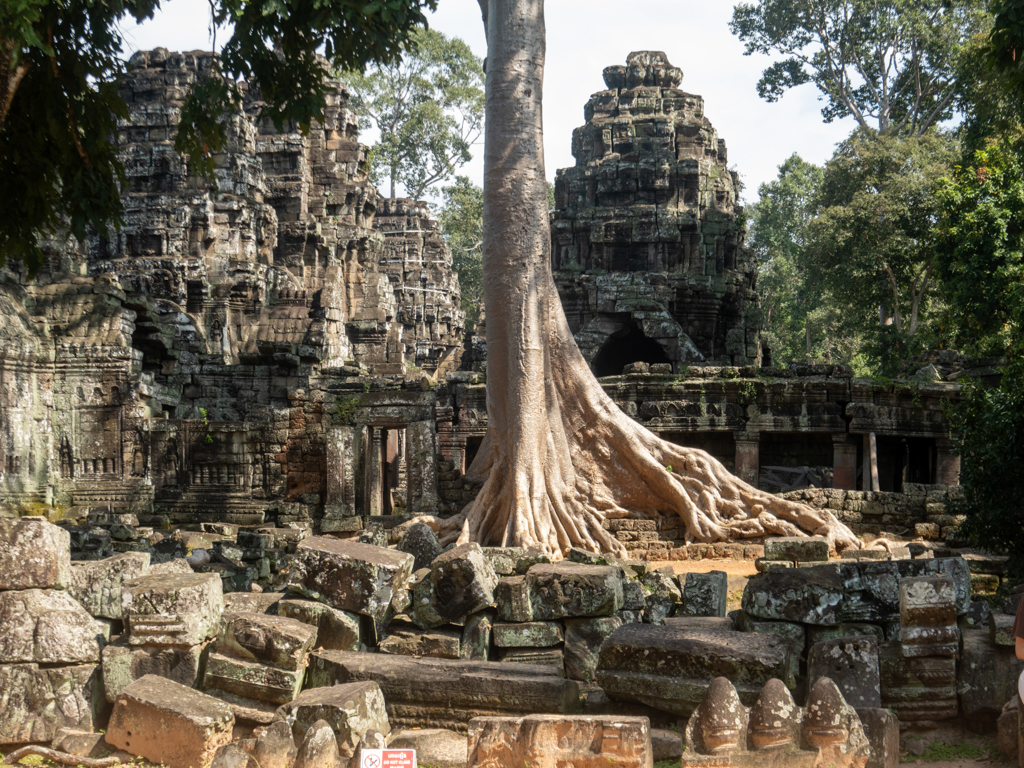
[[[590,94],[604,89],[605,67],[626,63],[634,50],[662,50],[682,69],[682,89],[705,97],[706,114],[729,148],[729,166],[739,171],[746,202],[757,199],[758,185],[776,175],[794,152],[823,163],[854,127],[852,119],[830,125],[821,120],[818,92],[812,85],[790,91],[768,103],[757,94],[766,56],[744,56],[728,28],[729,0],[551,0],[546,6],[548,54],[545,73],[544,135],[546,169],[574,164],[572,129],[583,125]],[[129,49],[210,48],[206,0],[164,0],[156,18],[126,29]],[[473,51],[486,54],[476,0],[439,0],[430,26],[461,37]],[[227,39],[221,30],[218,48]],[[372,143],[365,132],[362,140]],[[482,152],[460,173],[482,183]]]

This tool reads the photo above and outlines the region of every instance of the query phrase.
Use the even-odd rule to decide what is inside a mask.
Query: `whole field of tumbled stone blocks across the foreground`
[[[18,588],[0,591],[3,744],[348,768],[441,728],[468,734],[468,765],[649,766],[651,726],[677,723],[683,765],[890,768],[901,730],[1017,722],[1012,616],[976,621],[963,557],[813,564],[814,539],[769,543],[784,567],[726,615],[724,573],[578,550],[550,563],[469,545],[414,571],[398,544],[307,537],[281,592],[224,595],[184,558],[73,565],[70,539],[0,521]]]

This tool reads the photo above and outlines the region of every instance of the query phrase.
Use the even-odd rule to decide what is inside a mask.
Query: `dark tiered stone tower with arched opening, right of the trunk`
[[[636,361],[760,365],[757,265],[738,178],[703,99],[657,51],[604,71],[574,168],[555,176],[552,268],[598,376]]]

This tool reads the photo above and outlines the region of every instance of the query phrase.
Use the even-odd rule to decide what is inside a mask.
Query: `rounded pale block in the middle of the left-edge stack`
[[[102,625],[67,592],[0,592],[0,664],[99,662]]]

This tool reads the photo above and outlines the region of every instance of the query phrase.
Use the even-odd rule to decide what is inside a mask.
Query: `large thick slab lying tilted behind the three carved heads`
[[[627,624],[601,646],[597,684],[612,698],[688,717],[716,677],[751,706],[776,677],[796,685],[788,646],[774,635]]]

